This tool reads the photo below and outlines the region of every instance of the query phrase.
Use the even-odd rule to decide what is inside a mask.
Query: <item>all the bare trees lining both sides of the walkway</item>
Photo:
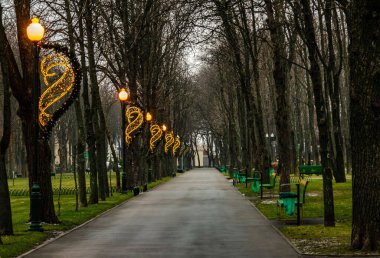
[[[211,165],[264,170],[278,158],[282,183],[301,162],[322,164],[325,226],[335,225],[332,181],[352,174],[351,245],[380,249],[378,1],[2,0],[1,235],[13,234],[6,179],[13,171],[31,178],[33,52],[25,29],[34,16],[44,40],[75,52],[83,73],[80,97],[39,146],[44,222],[59,222],[52,171],[75,168],[82,207],[110,194],[109,163],[120,190],[116,93],[127,86],[133,102],[191,147],[182,152],[189,162],[202,138]],[[193,48],[196,69],[187,62]],[[129,147],[129,188],[146,182],[148,167],[154,178],[176,169],[162,148],[147,154],[148,137],[145,128]]]

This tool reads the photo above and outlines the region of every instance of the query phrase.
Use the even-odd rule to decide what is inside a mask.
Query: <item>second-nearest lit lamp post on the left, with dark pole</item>
[[[121,174],[121,193],[126,194],[127,191],[127,160],[126,160],[126,145],[125,145],[125,108],[129,97],[125,88],[121,88],[119,91],[119,100],[121,103],[121,130],[122,130],[122,153],[123,153],[123,173]]]

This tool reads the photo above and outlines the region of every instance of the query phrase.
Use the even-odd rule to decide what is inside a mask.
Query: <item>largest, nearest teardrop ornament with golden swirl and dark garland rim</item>
[[[75,54],[67,47],[40,42],[42,49],[53,53],[42,58],[40,72],[47,89],[39,102],[40,136],[46,140],[55,123],[69,109],[80,92],[82,71]],[[62,100],[65,98],[64,100]],[[59,103],[58,103],[59,102]]]

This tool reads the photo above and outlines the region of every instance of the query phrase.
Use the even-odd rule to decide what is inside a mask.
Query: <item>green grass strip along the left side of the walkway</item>
[[[58,177],[57,177],[58,178]],[[163,182],[170,180],[171,177],[163,178],[156,182],[152,182],[148,185],[148,189],[152,189]],[[54,179],[58,180],[59,179]],[[10,180],[11,181],[11,180]],[[72,179],[66,178],[64,180],[66,187],[74,187],[74,182]],[[114,181],[115,182],[115,181]],[[27,179],[16,179],[15,185],[9,182],[10,188],[16,187],[22,189],[27,187]],[[115,184],[115,183],[113,183]],[[53,182],[54,186],[54,182]],[[113,193],[112,197],[107,198],[106,201],[100,201],[98,204],[89,205],[86,208],[79,208],[79,211],[75,211],[75,196],[74,195],[64,195],[61,196],[61,214],[59,220],[61,221],[58,225],[44,224],[44,232],[29,232],[29,197],[23,196],[12,196],[11,206],[12,206],[12,220],[13,220],[13,236],[1,236],[3,245],[0,245],[0,257],[15,257],[18,256],[34,246],[43,243],[45,240],[56,236],[57,234],[72,229],[89,219],[105,212],[106,210],[128,200],[133,197],[133,193],[128,194]],[[58,196],[54,196],[54,204],[57,212]],[[58,213],[58,212],[57,212]]]

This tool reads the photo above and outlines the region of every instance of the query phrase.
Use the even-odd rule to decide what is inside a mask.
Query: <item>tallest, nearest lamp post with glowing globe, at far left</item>
[[[28,39],[33,43],[34,52],[34,87],[33,87],[33,156],[32,156],[32,189],[30,194],[30,217],[31,224],[29,231],[43,231],[41,226],[41,188],[39,185],[39,121],[38,121],[38,102],[41,94],[40,77],[38,73],[39,65],[39,47],[40,42],[45,34],[45,29],[39,23],[38,18],[33,18],[32,23],[26,29]]]

